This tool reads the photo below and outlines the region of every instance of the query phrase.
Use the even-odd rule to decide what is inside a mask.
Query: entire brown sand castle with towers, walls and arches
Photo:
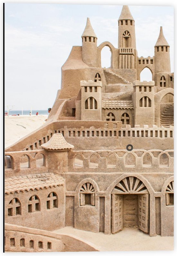
[[[89,18],[81,38],[46,124],[6,148],[5,251],[97,251],[52,232],[65,226],[173,236],[173,73],[163,29],[154,56],[138,57],[123,6],[118,48],[97,46]],[[153,81],[140,82],[145,67]]]

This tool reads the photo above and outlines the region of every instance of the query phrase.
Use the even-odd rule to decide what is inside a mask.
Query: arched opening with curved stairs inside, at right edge
[[[160,124],[163,127],[174,125],[174,100],[171,93],[167,93],[160,102]]]

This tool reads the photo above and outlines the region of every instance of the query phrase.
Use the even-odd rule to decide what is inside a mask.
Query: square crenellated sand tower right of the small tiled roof
[[[154,81],[134,81],[132,101],[134,105],[134,124],[154,125]]]

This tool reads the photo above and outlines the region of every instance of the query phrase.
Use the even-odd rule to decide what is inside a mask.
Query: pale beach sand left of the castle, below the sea
[[[5,148],[38,129],[48,115],[5,116]]]

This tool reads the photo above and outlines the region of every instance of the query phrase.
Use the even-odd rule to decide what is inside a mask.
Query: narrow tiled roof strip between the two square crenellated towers
[[[103,109],[134,109],[131,100],[102,100]]]

